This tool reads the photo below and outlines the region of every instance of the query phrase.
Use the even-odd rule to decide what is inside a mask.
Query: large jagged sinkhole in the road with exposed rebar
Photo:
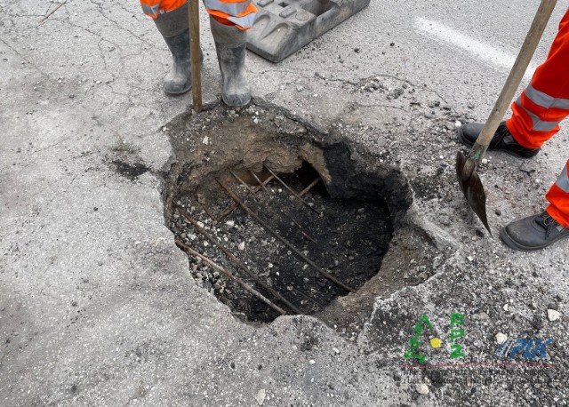
[[[165,216],[196,283],[234,315],[330,321],[378,275],[412,203],[396,167],[274,108],[216,107],[166,126]]]

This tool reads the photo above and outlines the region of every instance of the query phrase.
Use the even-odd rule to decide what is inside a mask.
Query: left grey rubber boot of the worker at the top
[[[172,68],[164,77],[164,92],[173,95],[188,92],[192,87],[189,68],[188,3],[172,12],[160,14],[154,21],[172,52]]]

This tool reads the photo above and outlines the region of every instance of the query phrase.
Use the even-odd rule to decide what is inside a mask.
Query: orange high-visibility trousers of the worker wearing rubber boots
[[[187,0],[140,0],[142,11],[157,19],[164,12],[186,4]],[[255,21],[257,8],[252,0],[204,0],[207,12],[221,24],[236,26],[239,29],[249,29]]]

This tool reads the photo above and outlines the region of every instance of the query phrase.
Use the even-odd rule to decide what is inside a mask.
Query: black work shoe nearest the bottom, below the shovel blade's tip
[[[512,249],[533,251],[569,237],[569,227],[562,227],[548,212],[543,211],[539,215],[517,220],[503,227],[500,237]]]

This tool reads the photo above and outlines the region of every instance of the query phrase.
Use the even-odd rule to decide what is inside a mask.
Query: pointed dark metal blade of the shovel
[[[456,175],[462,192],[469,202],[470,208],[472,208],[472,211],[482,220],[482,223],[484,223],[484,226],[490,235],[492,235],[486,217],[486,194],[482,180],[480,180],[477,174],[477,164],[461,151],[456,154]]]

